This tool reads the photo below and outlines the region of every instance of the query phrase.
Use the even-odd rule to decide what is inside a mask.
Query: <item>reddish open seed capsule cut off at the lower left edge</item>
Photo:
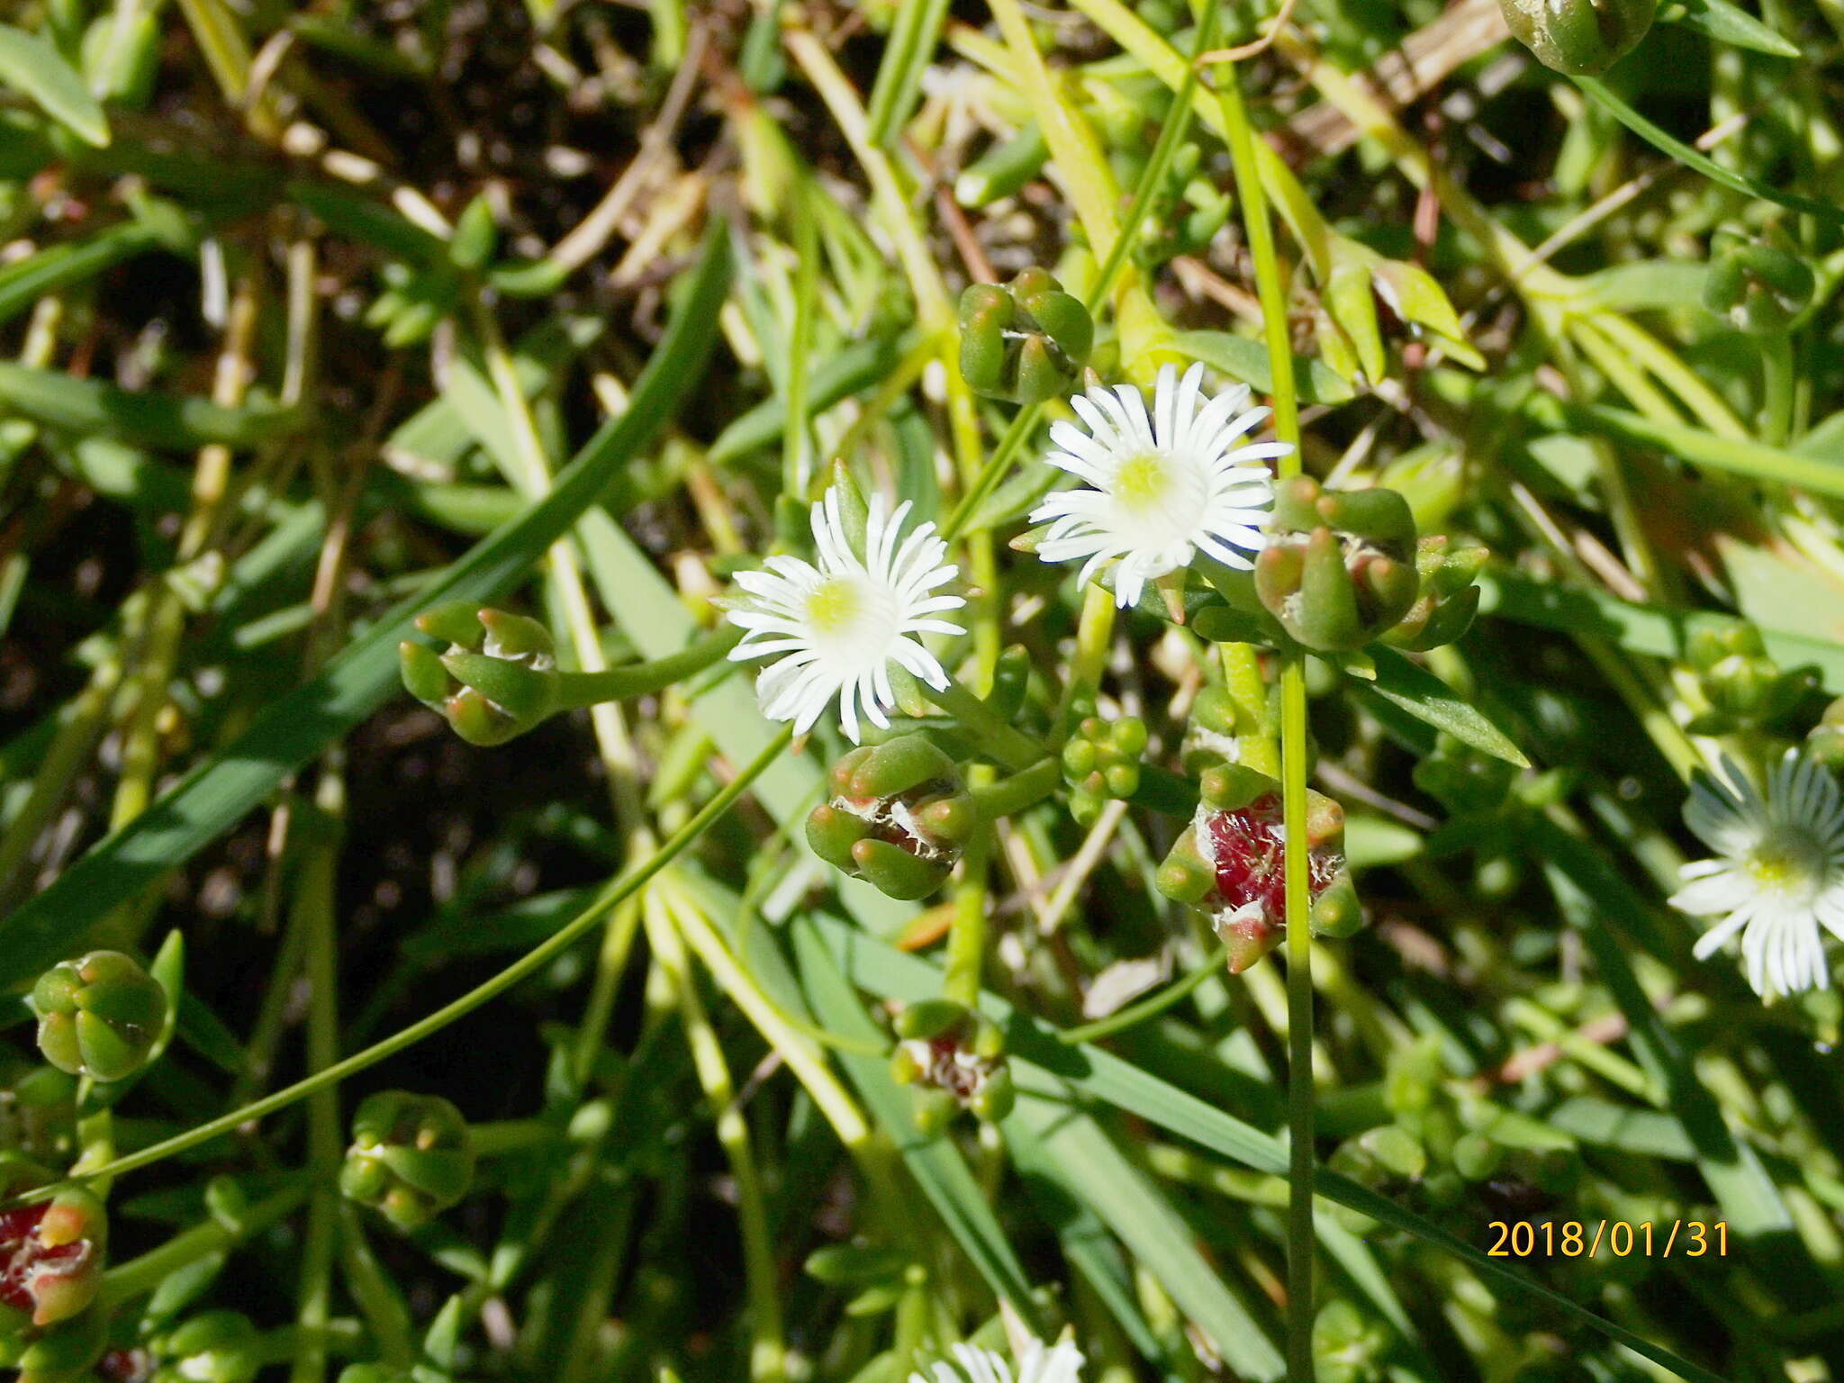
[[[53,1180],[35,1162],[0,1154],[0,1199]],[[77,1315],[101,1287],[107,1241],[101,1200],[83,1188],[0,1212],[0,1307],[39,1328]]]

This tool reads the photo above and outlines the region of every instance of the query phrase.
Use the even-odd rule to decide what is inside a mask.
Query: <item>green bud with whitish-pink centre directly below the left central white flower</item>
[[[953,760],[924,734],[863,745],[832,769],[832,798],[808,815],[813,854],[891,898],[935,892],[977,821]]]

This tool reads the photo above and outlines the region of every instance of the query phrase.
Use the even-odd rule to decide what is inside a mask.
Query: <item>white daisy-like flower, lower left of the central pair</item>
[[[859,557],[845,535],[833,487],[813,505],[819,566],[769,557],[765,570],[738,573],[736,585],[747,594],[727,614],[745,634],[730,656],[786,655],[756,680],[763,715],[793,721],[806,734],[837,695],[839,721],[856,745],[859,715],[878,727],[891,723],[883,714],[896,704],[891,662],[937,692],[948,686],[948,673],[916,636],[966,632],[929,618],[966,601],[929,594],[952,581],[955,570],[933,524],[922,524],[898,546],[907,516],[907,502],[891,514],[883,496],[872,496]]]

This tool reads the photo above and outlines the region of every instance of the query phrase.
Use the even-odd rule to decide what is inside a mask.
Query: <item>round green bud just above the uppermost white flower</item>
[[[961,374],[988,398],[1042,404],[1068,393],[1093,337],[1088,308],[1044,269],[961,293]]]

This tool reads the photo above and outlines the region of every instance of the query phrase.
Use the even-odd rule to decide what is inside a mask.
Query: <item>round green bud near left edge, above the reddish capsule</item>
[[[166,1023],[166,990],[122,952],[52,966],[31,987],[39,1051],[61,1071],[122,1081],[140,1070]]]

